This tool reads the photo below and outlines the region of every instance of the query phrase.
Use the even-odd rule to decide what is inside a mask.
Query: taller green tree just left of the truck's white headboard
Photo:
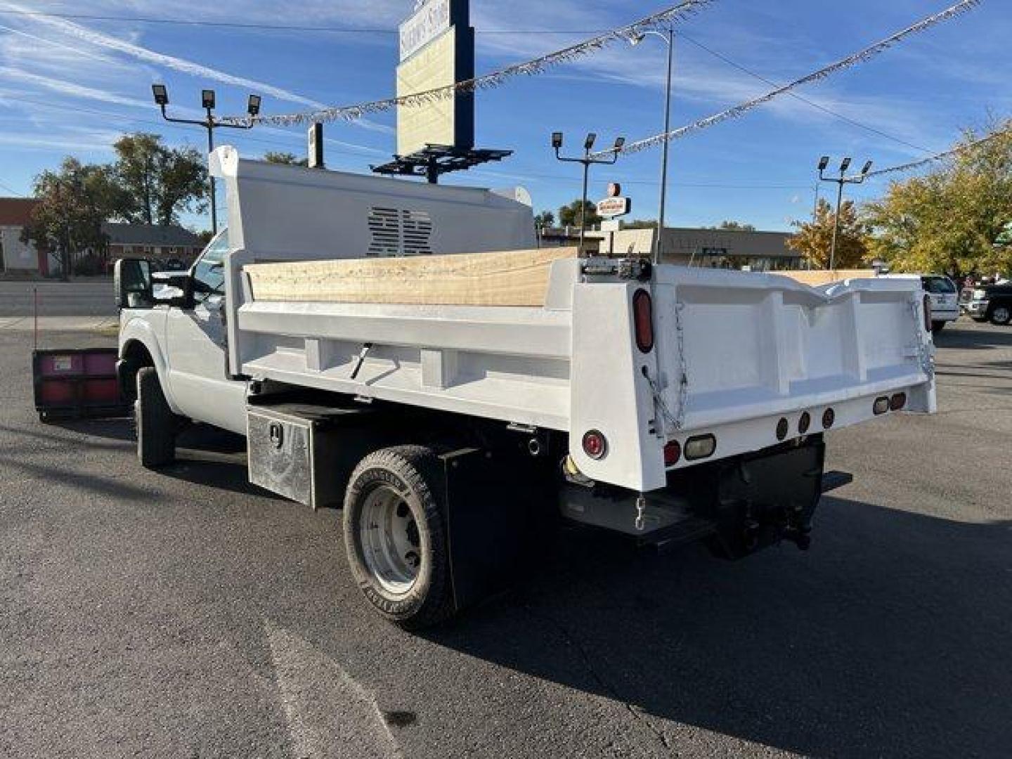
[[[193,148],[168,148],[159,135],[124,135],[113,145],[120,193],[114,216],[135,224],[169,225],[182,212],[203,213],[207,167]]]

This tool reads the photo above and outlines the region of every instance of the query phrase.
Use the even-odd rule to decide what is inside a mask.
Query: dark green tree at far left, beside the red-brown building
[[[108,238],[102,223],[118,201],[118,188],[108,167],[66,158],[59,171],[44,171],[35,177],[34,193],[38,204],[21,231],[21,240],[49,250],[67,280],[79,253],[106,251]]]

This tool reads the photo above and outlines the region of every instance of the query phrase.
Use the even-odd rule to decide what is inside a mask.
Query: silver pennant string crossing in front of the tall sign
[[[475,92],[480,89],[490,89],[498,87],[503,82],[518,76],[533,76],[540,74],[546,69],[560,64],[575,61],[579,58],[597,53],[618,41],[628,41],[645,31],[657,28],[667,28],[677,24],[689,16],[702,10],[714,0],[683,0],[678,5],[662,10],[653,15],[642,18],[635,23],[606,31],[582,43],[572,45],[568,48],[549,53],[545,56],[525,61],[524,63],[507,66],[490,74],[485,74],[474,79],[467,79],[462,82],[435,87],[423,92],[416,92],[399,97],[389,97],[383,100],[372,100],[354,105],[338,105],[332,108],[311,110],[301,113],[282,113],[277,115],[257,115],[257,116],[227,116],[222,119],[224,123],[235,125],[274,124],[278,126],[293,126],[297,124],[307,124],[314,122],[331,121],[354,121],[370,113],[380,113],[392,110],[398,106],[419,106],[427,105],[440,100],[445,100],[457,93]]]

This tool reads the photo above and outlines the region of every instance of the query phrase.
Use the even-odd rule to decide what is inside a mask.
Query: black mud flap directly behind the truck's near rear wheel
[[[528,461],[467,448],[441,456],[456,610],[508,590],[524,576],[545,514],[546,489]],[[519,470],[519,471],[518,471]]]

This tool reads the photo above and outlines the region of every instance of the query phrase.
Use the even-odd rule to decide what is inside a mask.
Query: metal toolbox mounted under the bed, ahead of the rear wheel
[[[250,482],[314,509],[340,506],[359,451],[349,449],[346,430],[338,433],[363,412],[301,404],[251,406]]]

